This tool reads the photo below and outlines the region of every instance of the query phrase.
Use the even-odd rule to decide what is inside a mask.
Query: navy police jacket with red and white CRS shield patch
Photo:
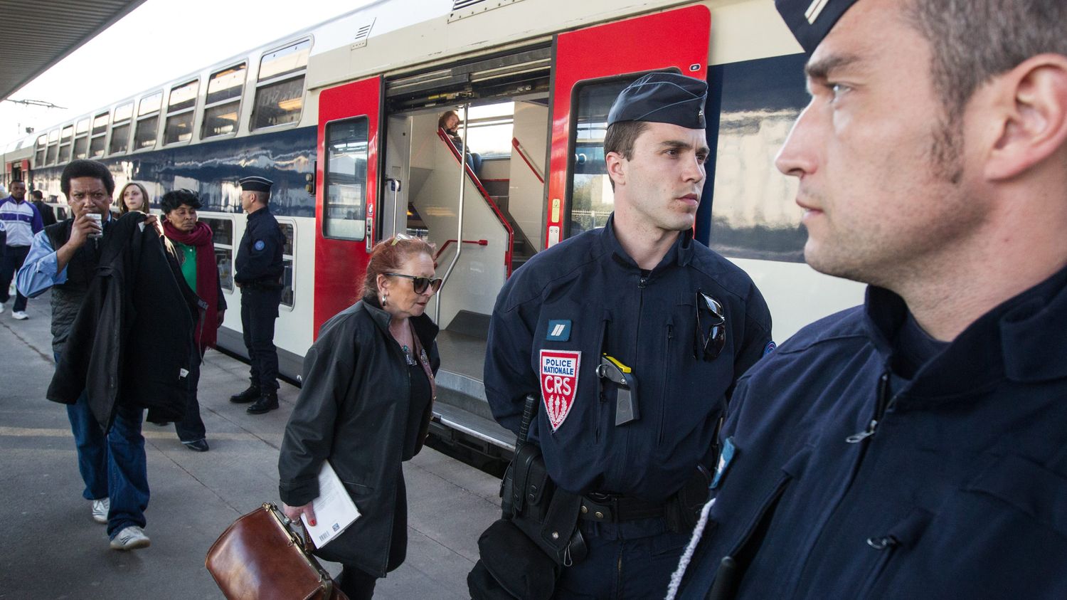
[[[748,275],[690,232],[642,272],[614,226],[612,217],[537,254],[504,286],[490,325],[485,396],[513,431],[523,398],[542,400],[530,438],[563,489],[655,502],[698,463],[711,467],[717,420],[737,377],[770,343],[770,314]],[[698,289],[726,313],[726,346],[710,362],[694,356]],[[595,373],[602,352],[633,369],[637,421],[615,425],[618,388]],[[575,363],[576,377],[567,376]]]

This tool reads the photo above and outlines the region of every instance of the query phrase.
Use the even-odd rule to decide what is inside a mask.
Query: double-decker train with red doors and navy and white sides
[[[433,432],[507,455],[513,436],[481,382],[494,300],[534,253],[605,223],[607,111],[644,73],[710,85],[697,238],[752,277],[775,338],[862,300],[803,264],[795,183],[773,163],[808,102],[803,61],[773,0],[380,1],[0,146],[3,176],[43,190],[61,218],[60,173],[76,158],[155,201],[198,191],[232,306],[237,180],[274,180],[287,240],[275,344],[292,379],[319,326],[359,299],[373,243],[427,237],[446,280],[429,306],[442,327]],[[437,127],[446,110],[477,173]],[[219,344],[244,353],[237,312]]]

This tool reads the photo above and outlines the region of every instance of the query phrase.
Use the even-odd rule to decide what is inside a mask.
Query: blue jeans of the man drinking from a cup
[[[115,407],[111,429],[105,433],[93,411],[89,395],[67,405],[67,417],[78,448],[78,471],[85,481],[85,500],[111,499],[108,512],[108,537],[129,525],[145,525],[148,507],[148,469],[144,454],[141,421],[144,409]]]

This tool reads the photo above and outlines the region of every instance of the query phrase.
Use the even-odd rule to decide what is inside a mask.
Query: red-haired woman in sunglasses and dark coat
[[[433,247],[398,234],[370,254],[363,299],[327,321],[304,359],[303,388],[278,458],[283,509],[315,522],[317,475],[329,460],[360,510],[316,551],[344,565],[338,587],[370,598],[403,563],[408,499],[400,463],[418,454],[430,424],[440,360],[426,304],[441,288]]]

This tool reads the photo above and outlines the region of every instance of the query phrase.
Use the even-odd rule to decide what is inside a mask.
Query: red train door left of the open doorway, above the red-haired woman
[[[377,231],[382,78],[319,95],[315,199],[315,336],[360,299]]]

